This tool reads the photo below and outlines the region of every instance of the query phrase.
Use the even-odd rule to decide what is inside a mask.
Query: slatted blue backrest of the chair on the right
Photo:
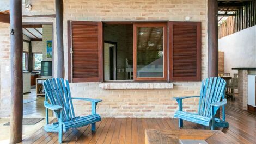
[[[220,102],[226,82],[220,77],[210,77],[202,81],[198,114],[211,116],[211,104]]]

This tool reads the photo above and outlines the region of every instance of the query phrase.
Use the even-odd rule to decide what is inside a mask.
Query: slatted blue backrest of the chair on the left
[[[63,120],[68,121],[75,118],[68,80],[64,80],[63,78],[52,78],[45,80],[43,85],[50,103],[63,107]]]

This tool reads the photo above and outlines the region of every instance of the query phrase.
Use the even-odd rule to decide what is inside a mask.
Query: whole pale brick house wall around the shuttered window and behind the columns
[[[7,1],[7,0],[4,0]],[[2,5],[3,1],[0,2]],[[23,2],[23,1],[22,1]],[[54,14],[54,0],[50,1],[29,1],[33,9],[32,11],[24,11],[23,15],[41,15]],[[150,0],[150,1],[124,1],[124,0],[64,0],[64,58],[65,70],[68,70],[68,42],[67,42],[67,21],[126,21],[126,20],[169,20],[169,21],[185,21],[185,17],[189,16],[190,21],[202,22],[202,78],[206,77],[207,70],[207,5],[206,0]],[[8,4],[9,2],[7,2]],[[5,4],[6,5],[6,4]],[[1,9],[2,6],[0,6]],[[6,7],[6,6],[4,6]],[[23,7],[22,7],[23,8]],[[23,22],[52,22],[54,28],[54,40],[56,40],[56,29],[54,18],[24,18]],[[2,24],[1,28],[2,29]],[[9,35],[7,27],[6,35]],[[2,33],[0,33],[2,35]],[[8,41],[8,40],[7,40]],[[2,43],[2,40],[0,41]],[[9,43],[9,42],[8,42]],[[3,45],[3,44],[2,44]],[[8,44],[6,44],[8,45]],[[56,52],[56,42],[54,50]],[[2,47],[1,47],[2,48]],[[9,53],[8,53],[9,54]],[[2,53],[1,62],[2,61]],[[7,58],[5,58],[7,57]],[[57,65],[57,53],[54,53],[54,65]],[[9,55],[4,55],[8,63]],[[5,64],[5,65],[9,65]],[[1,74],[5,70],[1,63]],[[56,72],[56,67],[54,71]],[[7,74],[8,75],[8,74]],[[55,74],[56,75],[56,74]],[[68,76],[65,71],[65,77]],[[1,83],[3,78],[9,78],[1,75]],[[5,85],[9,86],[10,83]],[[174,82],[173,89],[160,90],[103,90],[99,88],[99,83],[72,83],[70,84],[73,97],[92,97],[102,98],[103,102],[99,103],[97,111],[103,117],[173,117],[174,111],[177,109],[176,102],[170,100],[174,96],[198,95],[200,82]],[[1,84],[1,114],[8,110],[9,105],[3,103],[9,102],[9,87],[3,90]],[[4,99],[3,97],[8,97]],[[186,99],[184,102],[186,111],[195,111],[197,109],[196,99]],[[89,103],[78,101],[75,102],[76,114],[89,114]]]

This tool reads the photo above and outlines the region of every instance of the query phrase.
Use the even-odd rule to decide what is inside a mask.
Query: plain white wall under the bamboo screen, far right
[[[225,73],[238,73],[233,67],[256,67],[256,26],[222,37],[219,51],[224,52]]]

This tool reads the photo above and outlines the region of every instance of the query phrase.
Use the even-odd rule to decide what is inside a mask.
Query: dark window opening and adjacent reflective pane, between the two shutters
[[[133,24],[104,25],[104,78],[133,80],[133,60],[138,78],[163,77],[163,27],[136,27]],[[136,40],[136,58],[133,55]]]

